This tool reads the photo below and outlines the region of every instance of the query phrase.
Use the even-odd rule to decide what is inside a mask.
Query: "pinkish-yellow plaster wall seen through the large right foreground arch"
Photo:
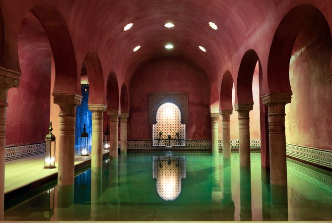
[[[327,24],[315,21],[294,44],[289,76],[292,102],[286,105],[286,142],[332,150],[332,87],[327,77],[332,43]]]

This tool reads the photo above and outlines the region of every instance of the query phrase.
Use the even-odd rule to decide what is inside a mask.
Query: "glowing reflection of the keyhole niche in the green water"
[[[153,178],[158,195],[165,201],[175,200],[181,193],[181,179],[186,178],[186,157],[154,156]]]

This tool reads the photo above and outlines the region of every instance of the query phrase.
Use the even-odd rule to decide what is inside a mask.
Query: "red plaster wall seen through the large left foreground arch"
[[[19,87],[8,90],[6,146],[44,142],[48,133],[51,49],[45,33],[41,32],[42,26],[33,23],[35,20],[28,13],[19,34],[22,76]]]

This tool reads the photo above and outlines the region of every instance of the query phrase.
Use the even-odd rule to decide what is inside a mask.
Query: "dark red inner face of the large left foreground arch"
[[[42,24],[49,39],[56,67],[53,93],[80,95],[77,67],[71,38],[64,18],[49,4],[37,4],[30,9]]]

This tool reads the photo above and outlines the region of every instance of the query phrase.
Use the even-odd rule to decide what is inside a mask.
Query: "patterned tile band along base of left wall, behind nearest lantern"
[[[44,153],[44,151],[45,151],[45,143],[6,147],[5,161],[42,154]]]

